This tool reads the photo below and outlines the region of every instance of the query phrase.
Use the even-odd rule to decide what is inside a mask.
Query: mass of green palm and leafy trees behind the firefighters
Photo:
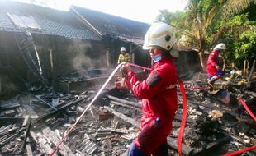
[[[168,19],[167,22],[171,24],[178,24],[178,32],[185,32],[183,39],[190,44],[189,47],[198,49],[201,67],[205,69],[202,53],[220,42],[228,44],[229,53],[226,57],[249,57],[255,46],[254,21],[249,21],[246,14],[235,15],[244,10],[254,12],[255,2],[256,0],[189,0],[187,10],[183,12],[186,16],[184,25],[179,24],[179,19],[173,18],[177,15],[172,13],[164,12],[164,19]],[[172,18],[168,18],[168,15]],[[250,15],[250,19],[254,18]]]

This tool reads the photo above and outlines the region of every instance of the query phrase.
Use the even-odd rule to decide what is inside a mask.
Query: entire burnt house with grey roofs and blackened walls
[[[148,28],[145,23],[81,7],[58,11],[1,1],[0,93],[56,88],[59,76],[116,66],[122,46],[133,62],[145,66],[149,57],[141,44]]]

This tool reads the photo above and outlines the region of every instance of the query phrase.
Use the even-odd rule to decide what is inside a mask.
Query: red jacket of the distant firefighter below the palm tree
[[[218,50],[212,50],[209,54],[206,69],[208,76],[214,76],[218,71],[216,66],[219,64],[219,53],[220,51]]]

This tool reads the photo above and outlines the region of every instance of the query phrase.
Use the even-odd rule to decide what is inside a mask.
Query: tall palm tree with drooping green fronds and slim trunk
[[[192,47],[199,51],[201,67],[205,70],[203,53],[211,43],[221,41],[220,30],[216,31],[225,21],[229,21],[235,14],[248,8],[256,0],[190,0],[187,6],[185,21],[187,39]],[[237,25],[238,26],[238,25]],[[220,27],[219,27],[220,28]],[[225,29],[222,30],[224,32]]]

